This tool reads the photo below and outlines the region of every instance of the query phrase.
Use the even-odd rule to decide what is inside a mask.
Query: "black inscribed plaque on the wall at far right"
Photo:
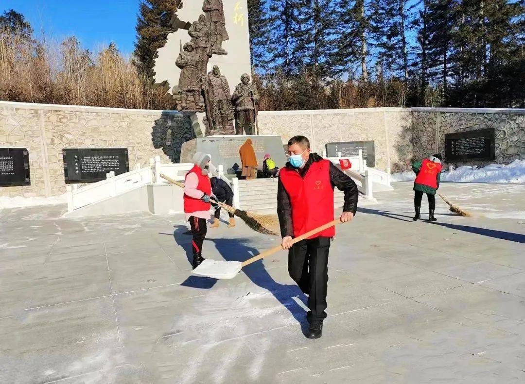
[[[445,134],[446,161],[490,161],[495,156],[495,131],[484,129]]]

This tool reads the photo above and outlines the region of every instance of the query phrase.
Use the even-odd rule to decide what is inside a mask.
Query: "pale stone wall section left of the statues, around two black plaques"
[[[155,156],[161,156],[163,163],[170,163],[170,153],[166,155],[162,148],[155,149],[152,133],[173,129],[180,115],[171,111],[0,101],[0,146],[27,148],[31,172],[30,186],[3,187],[0,196],[64,194],[62,149],[65,147],[128,148],[130,169],[137,164],[149,165],[149,159]],[[191,123],[186,124],[185,131],[187,134],[182,136],[188,136],[187,140],[194,137]],[[181,140],[185,141],[185,138]]]

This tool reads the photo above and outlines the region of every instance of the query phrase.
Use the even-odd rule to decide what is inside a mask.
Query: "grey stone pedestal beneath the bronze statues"
[[[212,157],[212,163],[224,166],[224,173],[235,163],[241,166],[239,149],[248,138],[251,138],[257,157],[257,168],[262,169],[264,155],[269,153],[275,164],[282,168],[287,162],[287,156],[282,146],[281,136],[208,136],[197,137],[182,144],[181,163],[192,163],[196,152],[204,152]]]

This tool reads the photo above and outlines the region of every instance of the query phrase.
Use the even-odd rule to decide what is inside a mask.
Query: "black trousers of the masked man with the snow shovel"
[[[309,323],[327,317],[328,293],[328,237],[303,240],[294,244],[288,252],[288,272],[299,285],[302,292],[308,295],[309,312],[306,318]]]

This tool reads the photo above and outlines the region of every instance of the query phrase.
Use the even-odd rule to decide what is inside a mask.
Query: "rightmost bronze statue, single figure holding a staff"
[[[255,127],[257,122],[257,104],[259,103],[259,92],[257,87],[250,83],[250,76],[244,73],[240,77],[240,83],[235,87],[232,95],[232,102],[235,103],[235,112],[237,114],[238,135],[257,134]]]

